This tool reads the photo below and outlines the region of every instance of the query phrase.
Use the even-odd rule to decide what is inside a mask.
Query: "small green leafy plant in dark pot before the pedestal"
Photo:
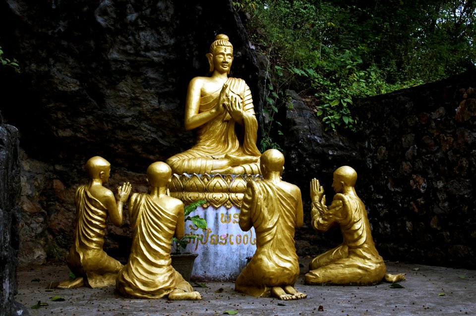
[[[199,206],[204,204],[205,201],[198,200],[193,202],[185,207],[184,217],[185,222],[191,221],[196,227],[201,229],[207,229],[207,221],[204,218],[201,218],[199,215],[190,216],[190,213],[195,211]],[[188,245],[190,239],[199,239],[202,240],[202,237],[199,235],[191,234],[185,235],[181,239],[176,237],[172,238],[172,242],[175,245],[175,253],[171,254],[172,266],[183,276],[187,281],[190,280],[192,274],[193,263],[198,254],[185,253],[185,247]]]

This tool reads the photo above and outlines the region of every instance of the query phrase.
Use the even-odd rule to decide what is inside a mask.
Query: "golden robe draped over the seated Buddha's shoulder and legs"
[[[258,122],[255,117],[251,91],[245,81],[228,78],[227,93],[241,100],[244,111],[243,126],[236,123],[227,111],[197,128],[197,142],[191,149],[167,159],[173,172],[204,174],[212,171],[213,158],[226,154],[238,157],[260,157],[256,147]],[[221,89],[200,99],[199,112],[212,110],[218,101]],[[260,174],[259,164],[242,164],[241,174]]]

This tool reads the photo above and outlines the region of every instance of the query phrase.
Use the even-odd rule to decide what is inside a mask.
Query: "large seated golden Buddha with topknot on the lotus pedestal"
[[[185,129],[197,129],[196,144],[167,163],[174,173],[258,174],[258,122],[244,80],[228,77],[233,46],[219,34],[206,54],[210,77],[195,77],[185,104]]]

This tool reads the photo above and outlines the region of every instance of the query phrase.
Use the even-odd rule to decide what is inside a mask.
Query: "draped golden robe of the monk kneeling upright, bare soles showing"
[[[300,197],[299,197],[300,198]],[[239,226],[254,226],[256,252],[235,282],[236,289],[255,297],[269,295],[273,286],[293,286],[299,276],[294,234],[297,198],[276,184],[248,182]]]

